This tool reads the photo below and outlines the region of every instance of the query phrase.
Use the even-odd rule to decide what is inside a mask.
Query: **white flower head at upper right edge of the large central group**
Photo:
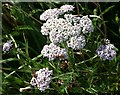
[[[80,20],[80,24],[82,26],[83,33],[93,32],[94,28],[92,25],[92,21],[88,18],[88,16],[83,16]]]

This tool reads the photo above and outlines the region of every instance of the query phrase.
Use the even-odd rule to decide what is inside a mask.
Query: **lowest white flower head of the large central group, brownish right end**
[[[45,45],[41,51],[44,57],[49,58],[49,60],[54,60],[59,56],[63,56],[64,59],[67,59],[67,50],[60,48],[59,46],[51,43],[50,45]]]

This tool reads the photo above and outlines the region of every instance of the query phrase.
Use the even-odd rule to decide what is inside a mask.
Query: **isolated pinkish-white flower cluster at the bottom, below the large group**
[[[40,91],[45,91],[45,89],[49,88],[53,71],[48,68],[43,68],[36,71],[35,74],[36,77],[32,77],[30,84],[37,87]]]

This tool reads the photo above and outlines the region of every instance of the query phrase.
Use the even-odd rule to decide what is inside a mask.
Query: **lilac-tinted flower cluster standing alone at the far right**
[[[116,56],[115,46],[113,44],[100,45],[96,52],[103,60],[112,60]]]

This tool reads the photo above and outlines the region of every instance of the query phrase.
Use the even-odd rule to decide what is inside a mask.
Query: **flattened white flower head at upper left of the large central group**
[[[48,9],[40,15],[40,20],[46,21],[48,19],[58,18],[60,14],[61,13],[57,8]]]

